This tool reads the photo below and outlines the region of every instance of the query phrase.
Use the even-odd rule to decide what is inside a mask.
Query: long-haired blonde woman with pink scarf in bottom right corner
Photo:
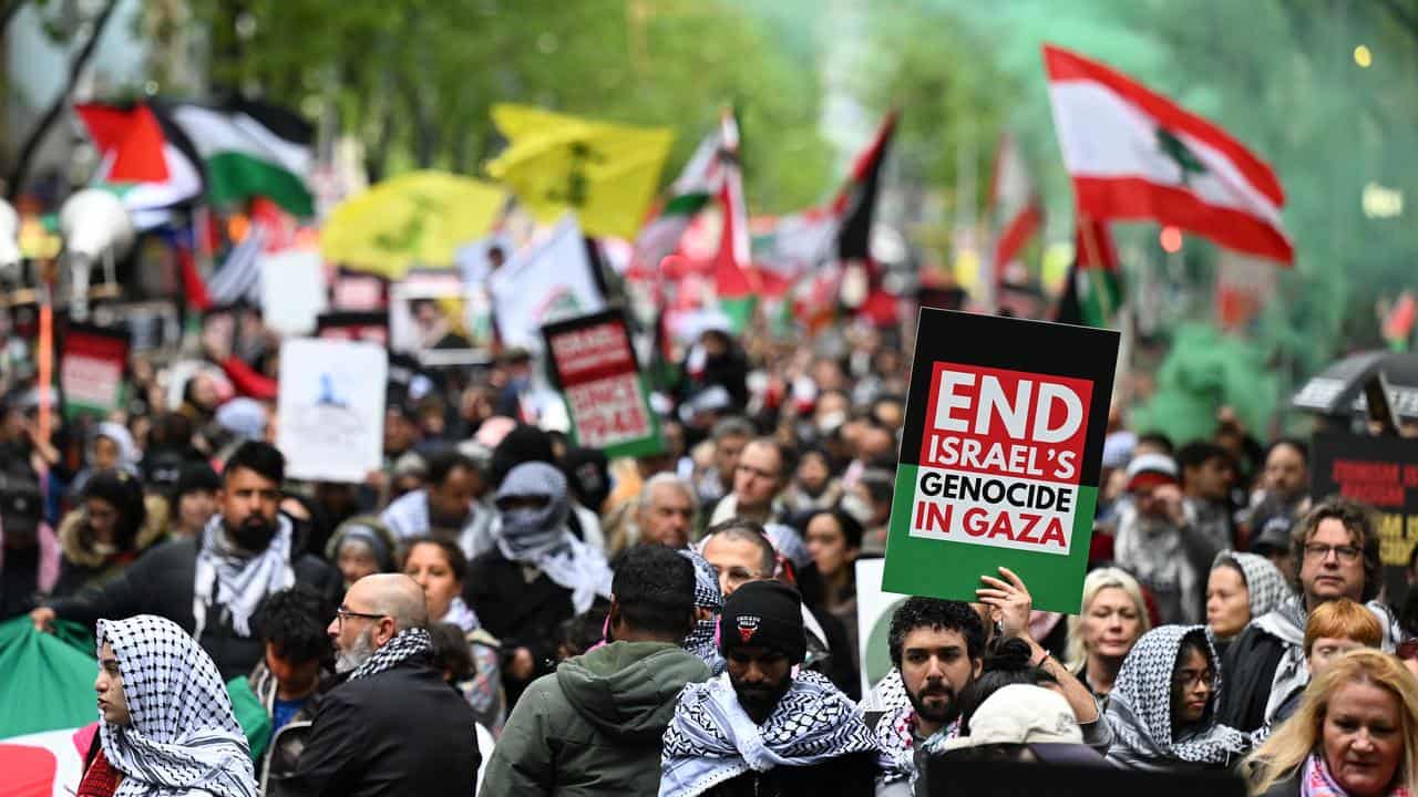
[[[1299,710],[1251,754],[1252,794],[1418,794],[1418,679],[1375,650],[1341,655],[1305,691]]]

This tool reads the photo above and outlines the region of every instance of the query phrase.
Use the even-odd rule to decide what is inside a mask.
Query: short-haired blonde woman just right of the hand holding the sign
[[[1083,579],[1082,610],[1068,618],[1066,667],[1102,701],[1150,628],[1137,580],[1117,567],[1099,567]]]

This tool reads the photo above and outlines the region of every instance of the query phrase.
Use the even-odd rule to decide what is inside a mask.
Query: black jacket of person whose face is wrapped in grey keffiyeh
[[[576,615],[571,590],[557,584],[546,573],[537,573],[530,583],[522,576],[523,566],[492,549],[472,560],[462,596],[478,613],[482,627],[502,642],[503,688],[508,691],[508,710],[526,684],[515,684],[506,675],[506,659],[518,648],[532,651],[536,672],[527,682],[552,672],[547,664],[556,659],[559,627]]]

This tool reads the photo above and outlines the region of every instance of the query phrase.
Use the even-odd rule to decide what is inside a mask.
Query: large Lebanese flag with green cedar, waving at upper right
[[[1044,45],[1054,128],[1090,218],[1151,218],[1290,265],[1275,173],[1225,130],[1096,61]]]

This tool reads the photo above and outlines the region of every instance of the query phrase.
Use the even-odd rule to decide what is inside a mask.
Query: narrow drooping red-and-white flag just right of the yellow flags
[[[719,203],[723,208],[723,225],[713,261],[713,282],[719,309],[729,316],[733,332],[740,333],[749,326],[757,306],[759,281],[750,262],[749,210],[743,200],[743,176],[739,169],[739,123],[733,113],[723,115],[722,136],[723,180],[719,184]]]

